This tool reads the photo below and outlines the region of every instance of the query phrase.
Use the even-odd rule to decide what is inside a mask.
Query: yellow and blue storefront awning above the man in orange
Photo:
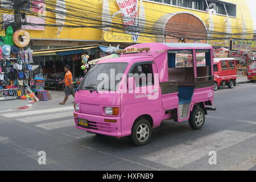
[[[76,53],[82,53],[86,49],[92,49],[96,48],[98,46],[92,46],[92,47],[80,47],[80,48],[71,48],[71,49],[57,49],[57,50],[51,50],[51,51],[35,51],[32,52],[33,56],[53,56],[53,55],[59,55],[59,56],[65,56],[65,55],[72,55]]]

